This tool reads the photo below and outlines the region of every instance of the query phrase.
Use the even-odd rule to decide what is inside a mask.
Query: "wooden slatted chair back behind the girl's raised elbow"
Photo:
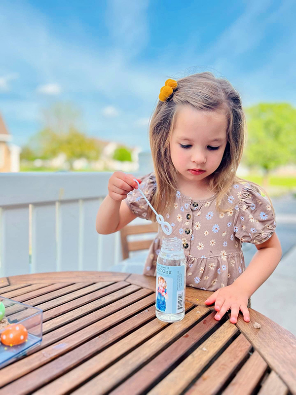
[[[127,259],[129,257],[130,251],[147,250],[153,241],[153,239],[128,241],[127,236],[145,234],[145,233],[155,233],[157,232],[157,230],[158,230],[157,222],[152,222],[143,225],[141,224],[141,225],[124,226],[120,230],[122,259]]]

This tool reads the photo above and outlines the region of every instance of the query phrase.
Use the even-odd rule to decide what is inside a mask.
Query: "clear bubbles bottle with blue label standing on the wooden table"
[[[182,240],[163,239],[156,264],[156,317],[167,323],[185,316],[186,258]]]

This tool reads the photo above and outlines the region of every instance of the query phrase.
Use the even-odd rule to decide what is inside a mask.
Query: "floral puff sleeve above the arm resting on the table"
[[[259,188],[247,184],[241,190],[240,200],[235,207],[234,234],[243,243],[261,244],[275,231],[275,215],[267,197]]]

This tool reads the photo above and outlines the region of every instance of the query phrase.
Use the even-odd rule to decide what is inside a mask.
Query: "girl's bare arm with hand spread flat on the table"
[[[233,284],[218,289],[205,301],[206,305],[215,302],[215,310],[218,311],[215,315],[216,320],[221,320],[226,311],[231,309],[231,323],[236,323],[239,310],[243,313],[244,320],[250,321],[248,299],[268,279],[282,256],[281,244],[276,233],[256,247],[258,251],[244,273]]]

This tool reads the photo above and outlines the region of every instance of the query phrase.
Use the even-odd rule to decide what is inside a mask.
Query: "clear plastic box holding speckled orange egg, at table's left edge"
[[[13,330],[27,330],[26,340],[17,345],[5,345],[0,341],[0,368],[14,361],[15,359],[26,355],[32,347],[39,345],[42,341],[42,310],[37,307],[29,306],[0,296],[0,302],[5,307],[5,317],[8,320],[7,325],[14,325]],[[16,328],[16,326],[20,324]],[[0,338],[2,333],[7,330],[7,326],[0,329]],[[7,333],[7,332],[6,332]],[[6,336],[5,336],[6,337]]]

